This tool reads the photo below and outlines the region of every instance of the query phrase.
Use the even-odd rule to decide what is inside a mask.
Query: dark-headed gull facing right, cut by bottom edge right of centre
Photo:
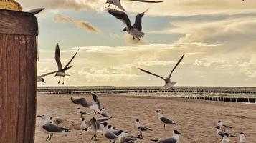
[[[179,134],[181,133],[174,130],[172,134],[172,137],[167,137],[164,139],[150,139],[150,143],[179,143]]]

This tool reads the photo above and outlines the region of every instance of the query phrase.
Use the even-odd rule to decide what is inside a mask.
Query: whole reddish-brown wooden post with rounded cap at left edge
[[[37,19],[0,9],[0,142],[32,143],[37,102]]]

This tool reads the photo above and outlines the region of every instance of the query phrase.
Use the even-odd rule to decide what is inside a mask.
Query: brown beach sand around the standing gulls
[[[72,124],[80,123],[80,115],[75,113],[79,106],[70,101],[71,95],[65,94],[38,94],[37,114],[45,114],[47,117],[63,119],[65,122],[60,124],[63,127],[70,127]],[[73,97],[85,97],[92,101],[90,95],[73,95]],[[125,95],[100,94],[100,102],[113,116],[109,123],[117,129],[131,130],[132,134],[137,135],[135,128],[136,118],[141,120],[141,124],[153,129],[152,132],[143,133],[144,139],[138,142],[148,142],[149,139],[171,137],[173,129],[181,132],[181,142],[183,143],[212,143],[220,142],[217,136],[217,121],[222,120],[226,124],[233,126],[227,132],[235,134],[237,137],[230,138],[230,142],[239,142],[240,132],[244,132],[250,142],[256,142],[256,105],[231,102],[209,102],[180,99],[176,97],[131,97]],[[178,125],[167,125],[163,129],[163,124],[158,121],[156,109],[161,109],[163,115],[173,119]],[[93,112],[90,109],[82,110]],[[99,115],[93,114],[96,118]],[[86,120],[91,117],[85,116]],[[47,134],[40,131],[37,127],[35,142],[45,142]],[[91,135],[80,135],[79,130],[72,129],[68,133],[54,134],[52,143],[81,143],[91,141]],[[98,137],[99,143],[108,143],[102,135]]]

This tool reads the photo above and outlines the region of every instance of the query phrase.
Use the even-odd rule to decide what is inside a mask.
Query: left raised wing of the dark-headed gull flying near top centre
[[[126,24],[128,28],[131,27],[131,21],[128,15],[125,14],[125,12],[114,10],[114,9],[107,9],[107,11],[109,14],[115,16],[115,18],[119,19],[120,21],[123,21],[123,23]]]

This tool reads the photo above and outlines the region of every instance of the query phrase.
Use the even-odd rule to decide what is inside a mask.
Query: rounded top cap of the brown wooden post
[[[27,12],[0,9],[0,34],[37,36],[37,18]]]

